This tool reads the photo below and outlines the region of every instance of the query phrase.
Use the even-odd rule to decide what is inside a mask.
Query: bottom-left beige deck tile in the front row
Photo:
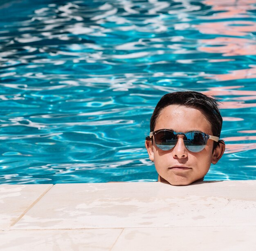
[[[110,250],[123,229],[11,230],[0,232],[0,250]]]

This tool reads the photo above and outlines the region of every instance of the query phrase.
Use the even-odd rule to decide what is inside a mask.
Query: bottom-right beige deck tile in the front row
[[[112,251],[255,251],[256,226],[124,229]]]

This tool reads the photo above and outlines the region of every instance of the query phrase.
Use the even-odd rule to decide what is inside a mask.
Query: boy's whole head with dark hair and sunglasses
[[[199,92],[165,94],[155,107],[145,141],[158,180],[172,185],[202,180],[224,153],[221,128],[215,99]]]

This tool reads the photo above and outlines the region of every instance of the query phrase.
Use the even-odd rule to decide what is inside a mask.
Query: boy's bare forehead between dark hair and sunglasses
[[[192,130],[211,134],[211,124],[204,114],[196,109],[184,105],[168,105],[164,108],[156,121],[154,130],[173,129],[176,132]]]

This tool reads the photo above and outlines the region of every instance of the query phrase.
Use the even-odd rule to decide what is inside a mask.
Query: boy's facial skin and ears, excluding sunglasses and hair
[[[160,112],[154,131],[172,129],[175,132],[201,131],[213,135],[209,121],[200,110],[183,105],[169,105]],[[216,135],[213,135],[216,136]],[[222,144],[220,144],[222,145]],[[186,149],[183,136],[171,150],[161,150],[151,141],[146,141],[146,148],[151,161],[159,174],[159,181],[166,180],[172,185],[188,185],[200,180],[207,174],[211,163],[216,164],[222,156],[225,146],[213,150],[213,140],[208,140],[200,152]],[[224,148],[224,149],[223,149]]]

